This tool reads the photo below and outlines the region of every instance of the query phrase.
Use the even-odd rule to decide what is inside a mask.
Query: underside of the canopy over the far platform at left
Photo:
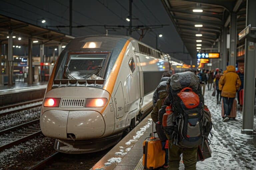
[[[28,24],[10,17],[0,15],[0,42],[2,44],[8,43],[8,32],[12,31],[13,45],[28,45],[28,39],[38,41],[38,44],[45,44],[45,46],[57,46],[59,43],[63,45],[74,39],[74,37],[59,33],[57,31],[49,30],[32,24]],[[18,40],[18,37],[21,40]]]

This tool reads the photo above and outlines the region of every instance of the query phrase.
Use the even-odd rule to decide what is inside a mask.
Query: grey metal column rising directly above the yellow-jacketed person
[[[236,66],[237,15],[235,12],[232,12],[230,16],[231,16],[231,19],[230,19],[229,65]]]

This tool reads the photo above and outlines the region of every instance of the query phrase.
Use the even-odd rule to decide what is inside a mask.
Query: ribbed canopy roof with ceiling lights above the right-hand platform
[[[246,0],[162,0],[162,3],[193,58],[197,53],[196,44],[202,44],[202,51],[215,46],[222,29],[229,27],[231,12],[237,13],[237,33],[246,27]],[[195,9],[203,12],[193,12]],[[202,36],[196,37],[196,34]]]

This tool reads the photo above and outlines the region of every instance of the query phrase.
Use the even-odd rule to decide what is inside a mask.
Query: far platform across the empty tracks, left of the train
[[[16,82],[13,86],[0,86],[0,106],[43,98],[46,86],[47,82],[33,85]]]

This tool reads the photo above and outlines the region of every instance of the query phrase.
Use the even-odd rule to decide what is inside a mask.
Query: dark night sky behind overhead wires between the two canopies
[[[45,18],[38,25],[45,27],[69,25],[69,0],[0,0],[0,14],[31,24],[37,24],[37,19]],[[190,63],[190,55],[183,54],[183,42],[176,32],[167,12],[160,0],[133,0],[133,25],[169,24],[155,29],[158,38],[158,48],[167,53],[177,52],[174,56]],[[73,26],[77,25],[129,25],[125,19],[129,16],[129,0],[73,0]],[[56,28],[51,28],[56,29]],[[69,28],[60,29],[69,34]],[[73,36],[105,34],[104,27],[73,28]],[[126,35],[126,29],[111,31],[109,34]],[[139,39],[139,34],[133,32],[132,37]],[[156,45],[154,33],[148,32],[142,42],[153,47]],[[189,59],[189,60],[187,60]]]

